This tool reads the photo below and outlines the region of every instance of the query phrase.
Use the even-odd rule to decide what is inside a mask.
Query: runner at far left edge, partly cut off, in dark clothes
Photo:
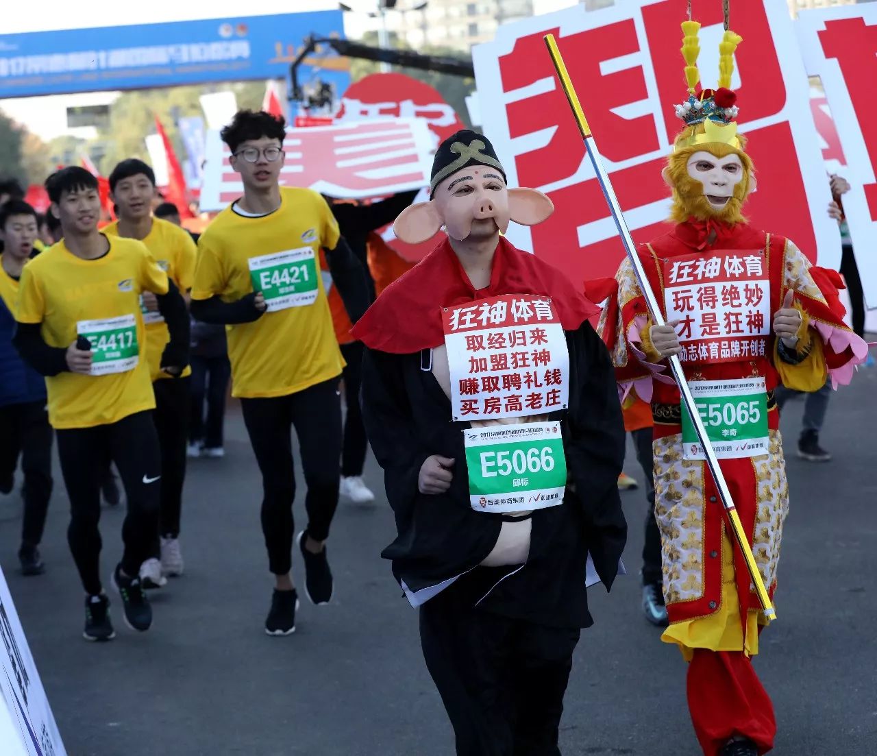
[[[37,213],[20,199],[0,207],[0,492],[10,493],[21,456],[25,474],[25,520],[18,559],[26,575],[41,574],[39,541],[52,496],[52,426],[46,413],[46,382],[12,346],[18,279],[39,236]]]

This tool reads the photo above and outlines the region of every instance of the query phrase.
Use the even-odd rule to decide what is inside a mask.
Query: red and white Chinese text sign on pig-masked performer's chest
[[[447,307],[454,420],[541,415],[567,407],[569,353],[547,296],[505,295]]]

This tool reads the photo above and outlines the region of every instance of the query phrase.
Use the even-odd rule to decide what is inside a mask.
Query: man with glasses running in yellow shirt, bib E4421
[[[332,210],[310,189],[282,187],[284,121],[239,111],[221,132],[244,196],[198,240],[193,317],[229,326],[232,395],[240,397],[264,491],[262,531],[275,591],[268,635],[296,629],[292,581],[292,503],[296,493],[291,427],[307,484],[308,524],[298,535],[305,593],[332,599],[325,542],[338,506],[341,454],[339,376],[345,365],[318,269],[321,248],[355,323],[368,303],[365,275]]]

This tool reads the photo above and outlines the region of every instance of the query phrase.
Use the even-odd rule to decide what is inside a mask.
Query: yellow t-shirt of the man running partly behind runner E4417
[[[101,229],[103,233],[118,236],[118,221],[106,225]],[[192,280],[195,278],[196,246],[189,232],[161,218],[153,218],[153,227],[142,239],[152,254],[159,267],[168,274],[168,278],[176,284],[181,294],[185,294],[192,288]],[[170,341],[170,332],[164,318],[158,312],[144,312],[143,319],[146,323],[146,361],[149,363],[149,377],[153,381],[160,378],[172,378],[161,368],[161,353]],[[186,367],[182,375],[192,373],[191,367]]]

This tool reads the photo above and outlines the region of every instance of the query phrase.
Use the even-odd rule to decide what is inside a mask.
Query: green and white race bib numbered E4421
[[[319,273],[313,247],[260,254],[251,257],[249,265],[253,291],[265,297],[268,312],[305,307],[317,301]]]

